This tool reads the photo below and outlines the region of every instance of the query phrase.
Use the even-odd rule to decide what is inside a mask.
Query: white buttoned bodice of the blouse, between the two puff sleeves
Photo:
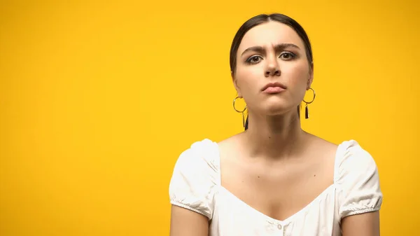
[[[221,187],[216,195],[216,214],[210,224],[212,236],[339,236],[335,219],[335,186],[284,221],[253,209]]]

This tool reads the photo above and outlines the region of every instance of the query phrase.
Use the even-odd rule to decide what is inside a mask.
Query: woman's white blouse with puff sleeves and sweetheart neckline
[[[339,236],[344,216],[378,211],[382,203],[377,165],[354,140],[337,148],[334,183],[284,221],[262,214],[221,186],[218,144],[209,139],[181,153],[169,197],[171,204],[207,216],[211,236]]]

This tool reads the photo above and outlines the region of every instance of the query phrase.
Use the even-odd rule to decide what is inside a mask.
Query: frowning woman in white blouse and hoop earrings
[[[300,126],[301,102],[315,98],[304,29],[286,15],[251,18],[232,42],[230,68],[249,123],[180,155],[169,185],[171,235],[379,235],[372,156],[354,140],[331,144]],[[304,101],[306,91],[313,99]]]

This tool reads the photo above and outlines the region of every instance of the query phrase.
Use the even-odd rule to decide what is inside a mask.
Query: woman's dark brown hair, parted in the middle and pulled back
[[[304,43],[304,48],[307,55],[309,67],[311,67],[311,64],[313,62],[311,43],[303,27],[299,25],[299,23],[297,23],[295,20],[288,17],[287,15],[283,15],[279,13],[274,13],[270,15],[261,14],[261,15],[256,15],[253,18],[244,22],[244,24],[241,25],[241,27],[238,29],[238,32],[235,34],[235,37],[233,38],[232,46],[230,47],[230,71],[232,73],[232,76],[235,76],[236,67],[237,67],[237,52],[238,52],[239,45],[241,44],[242,38],[244,38],[244,35],[246,34],[246,32],[248,32],[248,30],[252,29],[253,27],[257,25],[261,25],[262,23],[269,22],[269,21],[276,21],[276,22],[283,23],[291,27],[293,30],[295,30],[297,35],[300,36],[300,39],[302,39]],[[300,116],[300,106],[297,106],[297,115]],[[246,123],[245,123],[245,130],[247,129],[248,129],[248,117],[246,118]]]

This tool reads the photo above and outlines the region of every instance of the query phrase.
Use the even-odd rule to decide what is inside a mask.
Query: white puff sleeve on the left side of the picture
[[[215,145],[209,139],[197,141],[179,155],[169,183],[171,204],[190,209],[211,220],[218,183]]]

